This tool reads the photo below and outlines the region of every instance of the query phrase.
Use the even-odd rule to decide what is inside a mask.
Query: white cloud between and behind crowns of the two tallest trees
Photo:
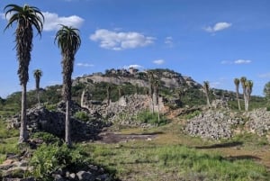
[[[45,18],[44,22],[44,31],[56,31],[60,28],[59,24],[64,24],[66,26],[72,26],[74,28],[80,28],[82,23],[84,23],[84,19],[77,16],[58,16],[58,14],[42,12]]]

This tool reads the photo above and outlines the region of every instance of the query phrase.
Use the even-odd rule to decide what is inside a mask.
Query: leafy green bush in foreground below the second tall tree
[[[85,152],[80,147],[68,148],[66,144],[42,144],[31,157],[31,176],[44,181],[53,180],[51,174],[59,168],[76,171],[88,164]]]

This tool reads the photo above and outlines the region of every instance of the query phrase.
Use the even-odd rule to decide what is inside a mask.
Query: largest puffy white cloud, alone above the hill
[[[108,50],[126,50],[145,47],[154,43],[155,38],[139,32],[112,32],[99,29],[90,35],[90,40],[99,41],[100,47]]]

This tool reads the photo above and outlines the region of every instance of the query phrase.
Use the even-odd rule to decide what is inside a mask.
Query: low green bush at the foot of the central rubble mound
[[[167,120],[164,116],[160,116],[160,119],[158,121],[158,114],[157,113],[151,113],[149,111],[142,111],[137,114],[137,121],[141,123],[150,123],[157,126],[162,126],[167,123]]]

